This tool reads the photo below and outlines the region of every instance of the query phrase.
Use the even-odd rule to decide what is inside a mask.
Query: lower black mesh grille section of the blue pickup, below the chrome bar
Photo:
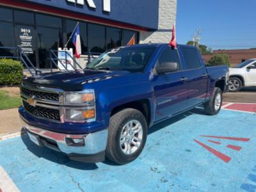
[[[25,111],[28,111],[32,115],[60,121],[60,111],[58,109],[49,109],[49,108],[43,108],[40,106],[34,107],[29,105],[29,103],[24,100],[23,100],[23,106]]]

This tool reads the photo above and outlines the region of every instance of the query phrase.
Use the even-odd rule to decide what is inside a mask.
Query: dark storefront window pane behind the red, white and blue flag
[[[76,20],[69,20],[67,19],[67,40],[69,39],[70,35],[74,31],[76,27],[77,21]],[[80,30],[80,39],[81,39],[81,50],[82,54],[87,54],[87,35],[86,35],[86,23],[79,22],[79,30]],[[72,44],[72,39],[68,42],[68,48],[72,48],[75,53],[75,46]]]

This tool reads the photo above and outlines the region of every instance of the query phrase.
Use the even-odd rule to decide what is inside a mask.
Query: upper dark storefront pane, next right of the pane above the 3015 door
[[[62,22],[61,22],[61,18],[59,17],[36,14],[36,25],[51,27],[51,28],[61,28]]]

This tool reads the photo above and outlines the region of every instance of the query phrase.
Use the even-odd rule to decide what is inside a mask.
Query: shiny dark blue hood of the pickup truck
[[[83,90],[83,84],[93,81],[103,81],[113,77],[129,74],[127,71],[108,70],[77,70],[72,72],[53,72],[42,74],[38,77],[28,77],[23,83],[35,84],[37,86],[47,86],[60,88],[66,91]]]

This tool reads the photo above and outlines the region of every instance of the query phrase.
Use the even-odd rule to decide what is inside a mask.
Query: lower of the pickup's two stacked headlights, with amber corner
[[[92,122],[95,120],[95,109],[65,109],[66,122]]]

